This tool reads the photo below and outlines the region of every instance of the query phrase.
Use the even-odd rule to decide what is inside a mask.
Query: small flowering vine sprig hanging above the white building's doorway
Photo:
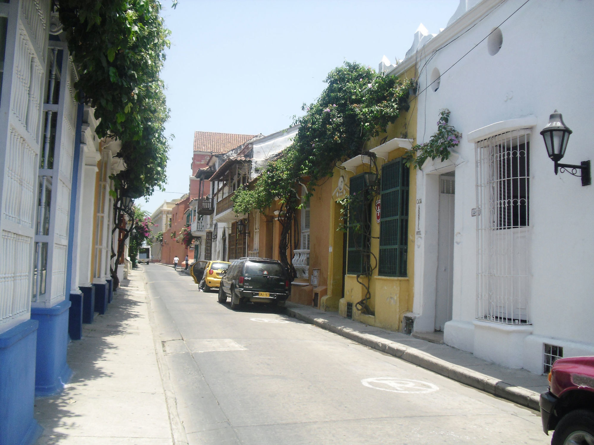
[[[432,160],[441,158],[442,162],[450,158],[452,148],[460,144],[462,133],[448,125],[449,120],[450,110],[444,108],[440,111],[440,120],[437,121],[437,132],[431,135],[428,142],[416,144],[403,156],[407,167],[414,166],[415,169],[417,167],[420,169],[428,158]]]

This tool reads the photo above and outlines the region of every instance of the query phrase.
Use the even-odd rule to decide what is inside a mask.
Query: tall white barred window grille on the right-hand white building
[[[476,317],[529,321],[530,131],[476,142]]]

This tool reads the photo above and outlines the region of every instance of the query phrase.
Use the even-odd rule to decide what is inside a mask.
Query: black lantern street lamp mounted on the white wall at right
[[[559,161],[565,156],[569,136],[573,133],[563,122],[563,116],[555,110],[549,117],[549,123],[542,129],[541,135],[545,140],[546,152],[549,158],[555,163],[555,174],[561,169],[561,173],[567,173],[582,178],[582,186],[592,184],[590,175],[590,161],[582,161],[579,166],[573,164],[560,164]],[[580,170],[581,174],[577,174]]]

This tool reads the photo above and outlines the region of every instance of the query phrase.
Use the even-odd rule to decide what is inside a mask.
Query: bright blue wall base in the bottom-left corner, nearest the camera
[[[37,320],[0,334],[0,443],[33,444],[43,428],[33,418]]]

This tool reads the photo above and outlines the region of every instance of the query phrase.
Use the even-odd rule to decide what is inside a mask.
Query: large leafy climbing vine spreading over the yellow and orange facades
[[[414,84],[349,62],[333,69],[325,82],[318,100],[304,104],[305,116],[293,122],[300,127],[292,144],[268,163],[252,189],[235,193],[236,213],[264,211],[277,199],[282,206],[299,206],[302,178],[307,178],[311,195],[338,161],[361,154],[369,138],[386,132],[400,111],[408,110]]]

